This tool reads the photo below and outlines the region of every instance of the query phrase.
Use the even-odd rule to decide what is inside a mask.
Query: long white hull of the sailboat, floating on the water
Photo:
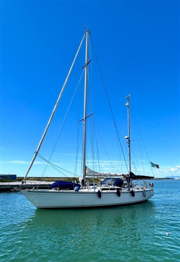
[[[135,204],[146,201],[153,197],[152,188],[143,190],[134,190],[135,197],[130,191],[121,191],[120,197],[114,191],[102,191],[101,198],[98,197],[97,191],[81,190],[61,191],[61,190],[21,190],[21,193],[36,208],[84,208],[84,207],[103,207]]]

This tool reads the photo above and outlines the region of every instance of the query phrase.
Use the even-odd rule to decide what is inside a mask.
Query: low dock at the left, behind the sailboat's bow
[[[4,182],[0,183],[0,192],[2,191],[18,191],[18,189],[23,188],[39,188],[39,189],[50,189],[50,185],[54,182],[46,181],[25,181],[24,184],[21,182]]]

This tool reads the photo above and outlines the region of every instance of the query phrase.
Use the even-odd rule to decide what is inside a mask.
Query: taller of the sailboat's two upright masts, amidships
[[[83,178],[86,177],[86,119],[87,119],[87,87],[88,87],[88,45],[89,30],[86,29],[85,91],[84,91],[84,129],[83,129]]]

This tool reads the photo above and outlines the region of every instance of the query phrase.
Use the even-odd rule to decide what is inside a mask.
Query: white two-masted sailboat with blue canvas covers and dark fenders
[[[57,103],[54,107],[53,113],[50,116],[48,124],[45,128],[44,134],[35,151],[33,160],[24,176],[23,182],[28,176],[28,173],[33,166],[33,163],[38,155],[44,137],[47,133],[50,123],[62,97],[65,85],[68,81],[76,56],[82,46],[84,38],[86,38],[86,56],[85,56],[85,90],[84,90],[84,117],[83,117],[83,164],[82,176],[80,183],[63,183],[62,181],[52,184],[50,189],[20,189],[20,192],[36,207],[36,208],[89,208],[89,207],[109,207],[120,206],[127,204],[135,204],[147,201],[153,197],[154,190],[152,187],[148,188],[146,181],[143,181],[142,186],[136,186],[132,183],[134,173],[131,171],[131,139],[130,139],[130,95],[127,99],[127,116],[128,116],[128,136],[125,137],[128,145],[128,159],[129,168],[128,174],[123,174],[126,182],[120,178],[116,178],[115,174],[104,179],[100,184],[93,186],[88,183],[87,176],[105,176],[103,173],[98,173],[91,170],[86,165],[86,135],[87,135],[87,89],[88,89],[88,47],[89,47],[89,30],[86,29],[83,39],[81,41],[78,52],[75,55],[70,71],[67,75],[65,83],[62,87],[61,93],[58,97]]]

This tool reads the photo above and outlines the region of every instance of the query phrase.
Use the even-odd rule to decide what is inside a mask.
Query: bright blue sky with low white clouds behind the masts
[[[24,176],[27,171],[83,26],[90,29],[122,136],[127,135],[125,96],[131,94],[148,158],[160,165],[153,169],[155,177],[179,176],[179,1],[2,1],[0,172]],[[79,77],[81,70],[74,71]],[[101,93],[96,100],[105,113]],[[110,147],[109,115],[99,120]],[[73,125],[66,134],[74,136]],[[73,172],[66,138],[60,146],[65,153],[55,161]],[[111,161],[118,160],[114,154]],[[30,176],[40,176],[42,166],[38,159]],[[49,170],[45,176],[60,174]]]

